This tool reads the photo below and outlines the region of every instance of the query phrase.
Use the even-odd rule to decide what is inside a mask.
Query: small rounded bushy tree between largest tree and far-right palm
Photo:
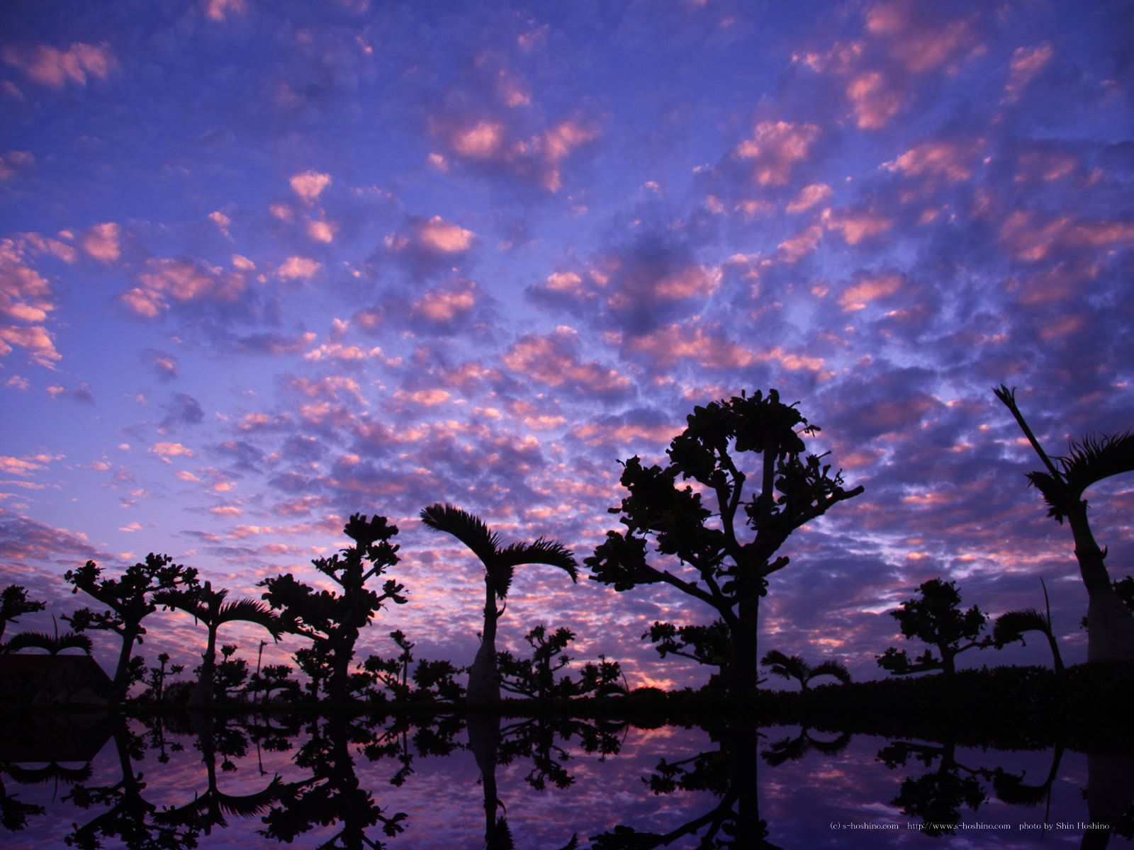
[[[911,663],[905,649],[898,652],[891,646],[885,654],[874,656],[880,668],[895,675],[924,670],[943,670],[947,675],[951,675],[957,670],[954,660],[959,653],[991,645],[992,638],[978,639],[988,617],[976,605],[967,611],[959,610],[960,593],[955,581],[931,578],[923,581],[917,590],[921,593],[920,600],[906,600],[900,609],[890,611],[889,614],[902,626],[906,640],[917,638],[931,644],[937,647],[941,657],[933,657],[933,652],[926,649]],[[965,640],[968,643],[962,643]]]

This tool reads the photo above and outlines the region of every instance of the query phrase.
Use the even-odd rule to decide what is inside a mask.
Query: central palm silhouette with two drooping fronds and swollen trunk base
[[[451,534],[472,550],[484,564],[484,631],[468,672],[469,703],[499,703],[500,673],[497,670],[497,620],[507,603],[497,609],[497,600],[505,602],[515,568],[525,563],[544,563],[558,567],[578,581],[575,555],[556,541],[540,537],[535,543],[511,543],[500,546],[500,535],[490,530],[479,518],[451,504],[433,504],[422,509],[422,522],[434,532]]]

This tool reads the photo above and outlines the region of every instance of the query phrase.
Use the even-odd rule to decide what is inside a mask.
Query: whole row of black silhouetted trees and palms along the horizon
[[[1124,588],[1134,587],[1134,579],[1127,578],[1128,585],[1110,580],[1105,563],[1107,550],[1100,549],[1092,536],[1083,499],[1091,484],[1134,470],[1134,436],[1129,432],[1089,436],[1072,442],[1067,457],[1052,458],[1019,411],[1015,392],[1006,386],[995,392],[1044,464],[1043,471],[1027,474],[1029,483],[1040,490],[1049,516],[1060,524],[1067,519],[1070,525],[1090,597],[1088,660],[1134,660],[1134,615],[1128,595],[1124,603]],[[627,495],[609,512],[619,515],[624,528],[608,532],[584,560],[590,577],[612,585],[616,592],[666,584],[713,610],[716,619],[709,624],[655,622],[643,638],[649,638],[662,657],[674,654],[716,666],[718,672],[710,686],[730,694],[754,691],[763,681],[756,664],[760,600],[768,593],[769,576],[789,563],[779,550],[797,528],[864,492],[862,485],[845,486],[841,470],[832,471],[833,465],[824,462],[828,453],[806,453],[805,437],[816,434],[820,427],[804,418],[797,403],[785,403],[776,390],[770,390],[767,396],[742,392],[729,400],[695,407],[687,416],[687,427],[670,443],[666,466],[645,466],[636,456],[619,461]],[[516,658],[496,648],[498,621],[506,611],[516,568],[555,567],[575,583],[578,564],[569,549],[544,537],[503,545],[480,518],[450,504],[428,507],[421,518],[428,528],[463,543],[484,568],[483,630],[467,671],[448,661],[418,660],[411,677],[414,645],[400,631],[391,632],[401,651],[399,655],[372,655],[352,671],[361,630],[383,607],[406,603],[405,587],[386,577],[399,560],[399,546],[392,543],[398,528],[386,517],[361,513],[353,515],[344,528],[353,543],[330,558],[312,562],[338,586],[337,590],[319,590],[285,573],[259,583],[264,588],[261,600],[229,602],[227,590],[200,581],[194,568],[174,563],[169,555],[151,553],[118,578],[105,577],[98,564],[87,561],[68,570],[64,579],[73,593],[83,590],[105,609],[84,607],[64,615],[71,631],[53,637],[24,632],[0,645],[0,653],[29,646],[51,652],[75,647],[90,653],[90,638],[84,632],[112,631],[121,639],[115,699],[125,699],[136,682],[150,685],[160,696],[166,677],[179,671],[166,670],[168,656],[166,661],[159,656],[160,666],[147,670],[144,658],[133,655],[133,648],[143,643],[146,634],[142,621],[163,607],[188,612],[208,629],[202,664],[195,671],[197,680],[188,696],[192,705],[209,705],[218,688],[227,692],[245,679],[245,689],[253,694],[296,692],[298,685],[289,678],[287,665],[270,665],[261,671],[257,664],[256,672],[248,675],[246,662],[230,657],[236,649],[231,645],[223,645],[222,658],[217,660],[219,628],[238,620],[261,626],[273,640],[284,635],[310,640],[310,646],[297,651],[294,660],[307,677],[308,695],[332,703],[365,695],[373,698],[382,689],[403,700],[416,695],[421,699],[467,699],[474,704],[499,702],[501,689],[539,698],[624,690],[618,683],[618,663],[606,658],[584,668],[577,681],[566,674],[557,678],[569,660],[566,646],[575,637],[567,629],[549,630],[541,624],[530,631],[530,658]],[[905,651],[891,647],[878,656],[879,665],[891,673],[949,673],[960,652],[989,645],[1001,647],[1021,640],[1031,629],[1044,631],[1056,653],[1056,664],[1061,665],[1050,612],[1009,612],[997,621],[991,636],[980,638],[987,617],[975,606],[959,611],[955,583],[932,579],[919,590],[920,600],[903,603],[891,614],[906,638],[917,637],[931,644],[938,656],[928,649],[911,661]],[[0,637],[7,622],[42,609],[43,603],[27,600],[24,588],[5,589]],[[771,651],[760,663],[773,674],[798,679],[804,688],[818,675],[849,679],[845,665],[837,661],[812,668],[801,656]],[[467,690],[457,680],[465,672]]]

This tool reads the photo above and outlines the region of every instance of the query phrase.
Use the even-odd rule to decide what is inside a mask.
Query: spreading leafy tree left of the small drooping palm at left
[[[79,609],[64,620],[75,631],[87,629],[112,631],[122,640],[115,670],[115,699],[126,698],[130,686],[145,675],[142,658],[132,663],[130,654],[135,641],[141,644],[145,632],[142,620],[158,610],[153,594],[158,590],[180,590],[195,587],[197,571],[192,567],[174,563],[169,555],[151,552],[145,562],[135,563],[118,579],[102,578],[102,569],[94,561],[87,561],[77,570],[67,570],[64,579],[73,585],[71,593],[83,590],[108,606],[108,611],[95,613],[91,609]]]

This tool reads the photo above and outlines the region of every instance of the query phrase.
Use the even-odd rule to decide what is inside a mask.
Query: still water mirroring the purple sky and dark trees
[[[0,746],[6,848],[1106,847],[1134,834],[1134,759],[1063,745],[494,714],[23,722],[43,725],[15,724]],[[79,746],[92,740],[98,755]]]

